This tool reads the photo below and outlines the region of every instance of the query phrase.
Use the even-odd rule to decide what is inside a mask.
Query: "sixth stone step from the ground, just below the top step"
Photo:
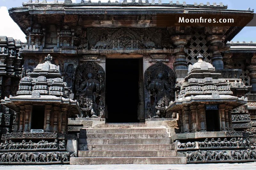
[[[86,133],[109,133],[109,134],[125,134],[125,133],[166,133],[165,128],[133,128],[133,129],[85,129]]]

